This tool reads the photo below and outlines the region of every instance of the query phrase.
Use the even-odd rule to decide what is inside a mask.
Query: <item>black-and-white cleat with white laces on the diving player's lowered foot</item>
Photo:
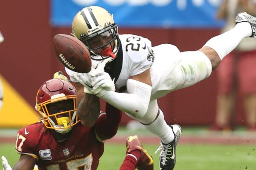
[[[176,147],[181,135],[180,125],[171,125],[172,132],[174,133],[174,140],[169,144],[160,142],[160,146],[157,148],[160,152],[160,170],[172,170],[176,163]]]

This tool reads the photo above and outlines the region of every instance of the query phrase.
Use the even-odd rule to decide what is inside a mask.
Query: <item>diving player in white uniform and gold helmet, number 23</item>
[[[243,38],[256,36],[255,17],[240,13],[236,23],[233,29],[213,37],[198,51],[180,52],[174,45],[151,47],[146,38],[119,35],[108,11],[98,6],[83,8],[73,19],[72,33],[89,49],[92,70],[82,74],[66,68],[71,81],[76,83],[77,103],[84,92],[96,94],[139,120],[161,139],[160,169],[172,170],[181,127],[166,124],[157,99],[206,79]]]

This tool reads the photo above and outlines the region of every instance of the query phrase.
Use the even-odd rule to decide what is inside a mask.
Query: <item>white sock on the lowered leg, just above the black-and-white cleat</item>
[[[169,144],[174,139],[172,128],[164,120],[163,112],[159,109],[158,118],[150,125],[144,125],[148,131],[154,133],[164,144]]]

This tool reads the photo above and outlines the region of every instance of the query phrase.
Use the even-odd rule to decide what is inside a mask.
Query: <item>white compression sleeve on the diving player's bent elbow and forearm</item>
[[[152,87],[134,79],[126,83],[128,93],[117,93],[102,89],[98,97],[135,118],[141,118],[148,110]]]

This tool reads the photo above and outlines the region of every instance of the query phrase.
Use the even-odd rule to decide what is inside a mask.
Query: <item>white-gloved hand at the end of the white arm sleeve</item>
[[[108,91],[115,91],[114,79],[112,80],[110,75],[104,71],[97,74],[96,79],[92,82],[93,90],[104,88]]]

